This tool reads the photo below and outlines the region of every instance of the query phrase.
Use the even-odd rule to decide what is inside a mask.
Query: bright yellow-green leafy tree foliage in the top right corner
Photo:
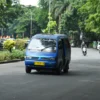
[[[100,34],[100,0],[87,0],[79,9],[79,13],[85,16],[83,19],[85,30]]]

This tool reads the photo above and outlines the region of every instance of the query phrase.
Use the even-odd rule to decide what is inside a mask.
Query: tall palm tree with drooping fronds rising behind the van
[[[58,31],[60,29],[61,14],[63,14],[70,6],[69,0],[40,0],[40,3],[43,8],[48,8],[48,11],[51,12],[53,18],[56,19]]]

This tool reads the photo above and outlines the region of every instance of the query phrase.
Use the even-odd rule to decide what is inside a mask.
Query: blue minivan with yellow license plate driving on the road
[[[68,73],[71,46],[65,34],[34,35],[25,52],[25,71],[52,70],[57,74]]]

